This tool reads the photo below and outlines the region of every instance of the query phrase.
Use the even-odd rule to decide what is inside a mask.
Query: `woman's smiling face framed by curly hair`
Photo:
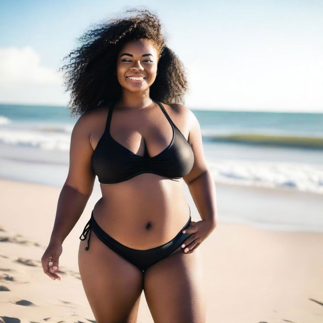
[[[149,88],[156,78],[157,59],[157,49],[150,40],[127,42],[117,58],[117,78],[123,89],[142,92]]]

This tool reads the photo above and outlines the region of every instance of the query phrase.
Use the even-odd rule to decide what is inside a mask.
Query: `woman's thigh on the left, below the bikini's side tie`
[[[135,323],[143,273],[103,244],[94,231],[91,231],[89,250],[85,250],[87,239],[80,241],[78,264],[96,322]]]

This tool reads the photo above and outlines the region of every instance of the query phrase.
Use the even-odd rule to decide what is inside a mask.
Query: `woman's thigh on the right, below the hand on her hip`
[[[204,323],[205,284],[200,249],[182,250],[150,266],[144,273],[144,293],[155,323]]]

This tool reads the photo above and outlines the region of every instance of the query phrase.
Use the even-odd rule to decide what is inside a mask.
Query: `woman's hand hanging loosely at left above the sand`
[[[59,268],[59,257],[62,254],[62,244],[59,242],[49,243],[46,251],[41,257],[42,269],[52,280],[61,280],[61,277],[55,274]]]

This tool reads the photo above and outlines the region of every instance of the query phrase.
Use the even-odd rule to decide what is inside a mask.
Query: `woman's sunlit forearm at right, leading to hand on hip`
[[[205,222],[217,225],[216,185],[207,170],[187,184],[196,208]]]

